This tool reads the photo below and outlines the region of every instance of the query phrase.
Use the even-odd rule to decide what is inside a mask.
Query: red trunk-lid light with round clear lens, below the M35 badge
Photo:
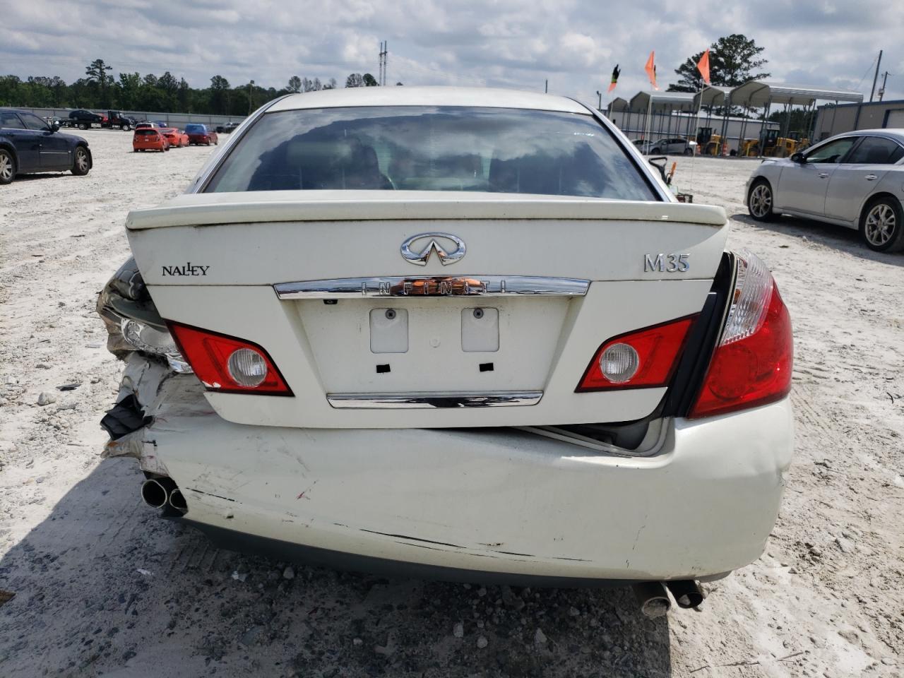
[[[607,339],[575,392],[667,386],[696,317],[689,315]]]

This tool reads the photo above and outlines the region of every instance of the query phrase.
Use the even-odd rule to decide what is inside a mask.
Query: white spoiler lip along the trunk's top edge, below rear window
[[[712,205],[508,193],[423,191],[259,191],[187,193],[128,213],[131,231],[273,221],[605,220],[676,221],[719,228]]]

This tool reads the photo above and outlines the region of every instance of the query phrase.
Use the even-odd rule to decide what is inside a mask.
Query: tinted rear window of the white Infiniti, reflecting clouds
[[[268,113],[241,137],[205,191],[327,189],[656,199],[591,116],[458,107]]]

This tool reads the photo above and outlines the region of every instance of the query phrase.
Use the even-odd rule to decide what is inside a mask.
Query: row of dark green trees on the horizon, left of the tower
[[[26,108],[94,108],[99,110],[146,110],[159,113],[205,113],[209,115],[247,116],[250,111],[293,92],[310,92],[338,87],[335,78],[302,78],[293,75],[286,87],[260,87],[254,80],[232,86],[221,75],[211,78],[210,87],[191,87],[184,78],[170,71],[163,75],[139,72],[119,73],[103,59],[95,59],[85,68],[85,77],[67,83],[60,76],[0,75],[0,106]],[[345,87],[373,87],[377,80],[370,73],[352,73]],[[398,83],[401,84],[401,83]]]

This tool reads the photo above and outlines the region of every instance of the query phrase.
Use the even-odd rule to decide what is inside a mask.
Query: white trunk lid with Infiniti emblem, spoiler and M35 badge
[[[259,344],[294,392],[218,413],[309,428],[641,419],[664,388],[581,376],[698,313],[727,236],[717,207],[493,193],[189,194],[127,227],[161,315]]]

